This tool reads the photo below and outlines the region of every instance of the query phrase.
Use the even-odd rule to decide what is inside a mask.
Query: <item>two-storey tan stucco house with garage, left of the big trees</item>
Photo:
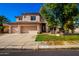
[[[16,22],[4,24],[4,32],[9,33],[27,33],[31,31],[46,32],[47,26],[39,13],[23,13],[16,16]]]

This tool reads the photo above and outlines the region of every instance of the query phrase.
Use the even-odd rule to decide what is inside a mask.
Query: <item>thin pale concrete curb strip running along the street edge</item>
[[[2,49],[32,49],[32,50],[38,50],[38,49],[70,49],[70,48],[77,48],[79,49],[79,45],[57,45],[57,46],[48,46],[48,45],[37,45],[37,46],[30,46],[30,47],[25,47],[25,48],[17,48],[17,47],[9,47],[9,48],[0,48],[0,50]]]

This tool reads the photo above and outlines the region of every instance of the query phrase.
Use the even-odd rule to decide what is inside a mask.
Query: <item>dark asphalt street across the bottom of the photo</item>
[[[19,50],[2,49],[0,56],[79,56],[79,50]]]

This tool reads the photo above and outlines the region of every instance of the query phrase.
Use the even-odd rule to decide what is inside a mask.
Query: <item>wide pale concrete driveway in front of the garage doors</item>
[[[35,48],[36,34],[3,34],[0,35],[0,48],[30,49]]]

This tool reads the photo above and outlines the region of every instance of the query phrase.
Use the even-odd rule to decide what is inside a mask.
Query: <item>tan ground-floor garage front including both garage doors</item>
[[[11,33],[26,33],[29,31],[41,31],[41,25],[37,23],[28,23],[28,24],[15,24],[11,25]]]

